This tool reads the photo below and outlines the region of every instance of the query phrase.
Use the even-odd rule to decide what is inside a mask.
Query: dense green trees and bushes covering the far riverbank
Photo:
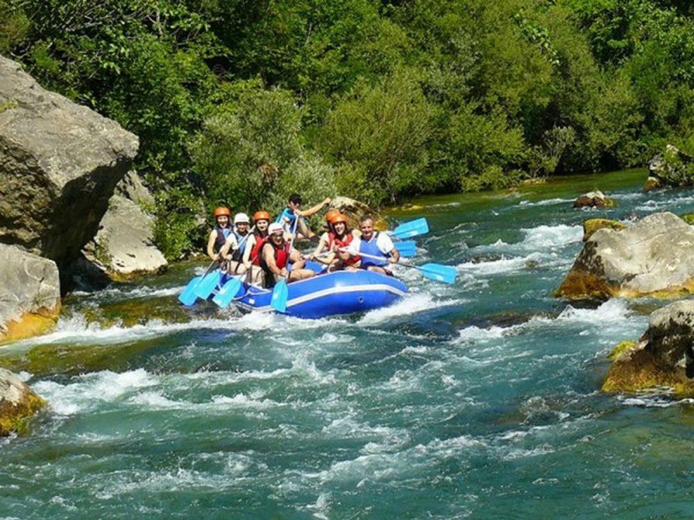
[[[159,247],[201,215],[694,149],[688,0],[0,0],[0,53],[141,139]]]

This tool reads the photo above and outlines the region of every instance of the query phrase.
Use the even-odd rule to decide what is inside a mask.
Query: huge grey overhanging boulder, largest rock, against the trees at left
[[[1,56],[0,105],[0,241],[62,265],[96,234],[137,137]]]

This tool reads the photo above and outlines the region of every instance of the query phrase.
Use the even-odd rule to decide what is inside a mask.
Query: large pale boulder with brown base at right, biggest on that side
[[[694,291],[694,229],[666,212],[626,229],[603,228],[583,246],[555,295],[667,297]]]

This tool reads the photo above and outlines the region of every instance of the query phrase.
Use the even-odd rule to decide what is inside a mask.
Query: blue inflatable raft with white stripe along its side
[[[307,262],[307,268],[318,272],[322,266]],[[337,271],[316,275],[287,286],[286,314],[297,318],[325,318],[387,306],[407,293],[402,281],[379,272]],[[240,291],[239,291],[240,293]],[[244,285],[235,303],[243,311],[269,311],[272,289]]]

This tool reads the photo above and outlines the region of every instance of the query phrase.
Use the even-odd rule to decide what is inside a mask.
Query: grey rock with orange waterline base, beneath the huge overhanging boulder
[[[60,279],[52,260],[0,244],[0,341],[44,333],[60,311]]]

